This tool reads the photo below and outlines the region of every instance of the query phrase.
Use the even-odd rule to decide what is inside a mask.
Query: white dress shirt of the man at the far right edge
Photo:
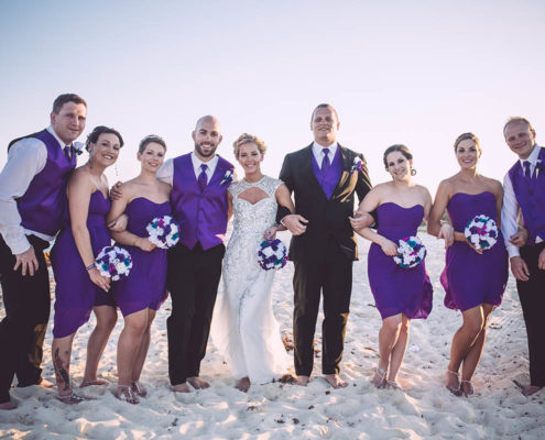
[[[527,161],[530,162],[530,175],[533,176],[535,172],[535,166],[537,164],[537,157],[539,155],[539,146],[535,145],[534,150],[530,154]],[[523,160],[521,162],[522,169],[524,170]],[[535,178],[535,177],[533,177]],[[519,202],[513,190],[513,184],[511,183],[511,177],[509,177],[509,172],[503,178],[503,207],[501,208],[501,231],[503,233],[503,239],[505,240],[505,248],[508,249],[509,257],[519,256],[519,248],[509,242],[509,239],[519,231]],[[536,238],[536,243],[542,242],[541,238]]]

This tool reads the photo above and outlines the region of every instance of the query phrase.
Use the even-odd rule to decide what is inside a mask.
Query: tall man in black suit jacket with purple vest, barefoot
[[[358,258],[349,218],[355,193],[361,201],[371,189],[366,161],[337,143],[337,111],[321,103],[313,112],[314,142],[284,158],[280,178],[294,193],[295,213],[279,209],[277,220],[293,234],[295,373],[297,384],[310,380],[314,331],[324,296],[321,372],[334,387],[347,386],[339,377],[345,330],[352,290],[352,262]]]

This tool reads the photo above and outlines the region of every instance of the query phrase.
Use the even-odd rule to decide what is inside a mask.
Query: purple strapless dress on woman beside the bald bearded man
[[[127,230],[135,235],[148,238],[145,228],[155,217],[171,215],[171,204],[155,204],[139,197],[127,205],[129,223]],[[166,299],[166,250],[155,248],[151,252],[140,248],[123,245],[132,257],[132,268],[128,277],[113,283],[116,304],[123,316],[150,308],[157,310]]]

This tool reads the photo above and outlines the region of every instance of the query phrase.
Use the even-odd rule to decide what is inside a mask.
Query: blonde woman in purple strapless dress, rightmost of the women
[[[437,237],[449,237],[454,231],[455,243],[447,249],[440,282],[447,293],[445,306],[460,310],[464,321],[453,339],[446,387],[457,396],[469,396],[473,394],[471,378],[484,346],[490,314],[505,290],[508,255],[500,231],[502,185],[477,173],[481,148],[475,134],[460,134],[454,147],[460,172],[440,183],[427,230]],[[445,209],[453,226],[440,222]],[[476,250],[464,234],[466,224],[478,215],[498,223],[498,242],[487,251]]]

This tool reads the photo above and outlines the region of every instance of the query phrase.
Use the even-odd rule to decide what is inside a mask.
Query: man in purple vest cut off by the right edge
[[[528,339],[530,396],[545,386],[545,148],[535,143],[535,131],[524,118],[511,118],[503,127],[505,142],[519,156],[503,180],[502,232],[511,272],[516,278]],[[527,229],[527,240],[517,232],[519,213]]]

